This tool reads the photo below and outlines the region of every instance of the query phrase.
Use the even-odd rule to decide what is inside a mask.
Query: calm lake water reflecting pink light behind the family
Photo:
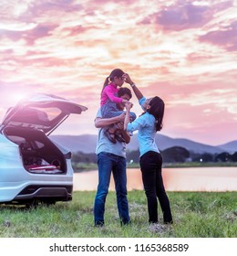
[[[237,191],[237,167],[163,168],[167,191]],[[143,189],[139,169],[127,169],[128,190]],[[74,190],[97,190],[98,170],[74,174]],[[114,190],[111,176],[110,190]]]

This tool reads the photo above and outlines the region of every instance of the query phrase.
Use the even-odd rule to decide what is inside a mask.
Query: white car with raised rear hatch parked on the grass
[[[48,135],[87,108],[35,94],[9,109],[0,125],[0,203],[54,204],[72,199],[71,152]]]

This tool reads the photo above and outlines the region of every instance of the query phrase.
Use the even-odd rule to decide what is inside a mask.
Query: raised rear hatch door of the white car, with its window
[[[10,108],[0,126],[38,129],[49,135],[71,113],[80,114],[88,108],[51,94],[34,94]]]

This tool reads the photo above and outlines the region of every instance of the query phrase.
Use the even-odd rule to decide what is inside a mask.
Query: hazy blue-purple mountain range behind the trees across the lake
[[[137,133],[131,137],[130,143],[127,145],[128,150],[138,150]],[[58,144],[62,144],[72,152],[94,153],[97,144],[98,135],[84,134],[84,135],[50,135],[50,138]],[[230,154],[237,151],[237,140],[227,144],[220,144],[212,146],[208,144],[201,144],[183,138],[170,138],[166,135],[157,134],[156,143],[160,150],[167,149],[172,146],[182,146],[194,153],[210,153],[219,154],[222,152],[229,152]]]

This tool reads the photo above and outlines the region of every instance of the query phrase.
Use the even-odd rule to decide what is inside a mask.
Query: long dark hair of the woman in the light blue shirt
[[[165,103],[160,97],[156,96],[149,102],[147,112],[152,114],[156,119],[156,131],[160,131],[163,127],[163,116],[165,111]]]

